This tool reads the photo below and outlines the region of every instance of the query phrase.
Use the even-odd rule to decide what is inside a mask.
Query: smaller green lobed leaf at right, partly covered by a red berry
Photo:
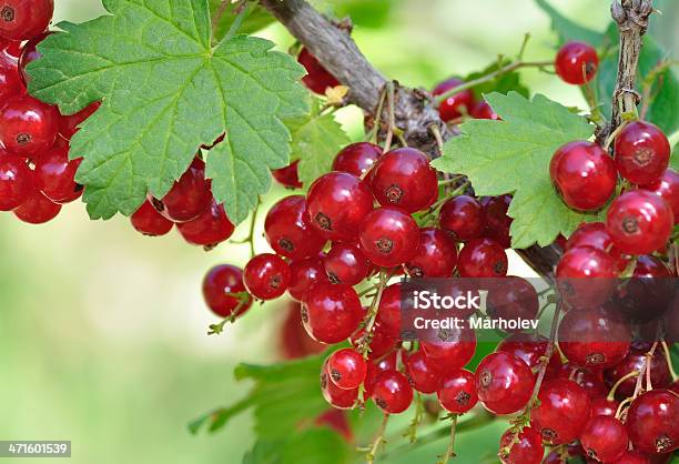
[[[596,220],[566,206],[549,179],[554,152],[592,135],[587,120],[541,94],[528,100],[517,92],[491,93],[486,100],[503,121],[463,123],[463,134],[446,143],[434,167],[467,175],[478,195],[513,193],[508,214],[516,249],[546,246],[559,233],[568,236],[582,221]]]

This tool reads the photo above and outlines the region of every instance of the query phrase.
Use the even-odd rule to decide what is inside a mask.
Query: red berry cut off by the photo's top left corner
[[[53,13],[53,0],[1,0],[0,37],[29,40],[48,28]]]

